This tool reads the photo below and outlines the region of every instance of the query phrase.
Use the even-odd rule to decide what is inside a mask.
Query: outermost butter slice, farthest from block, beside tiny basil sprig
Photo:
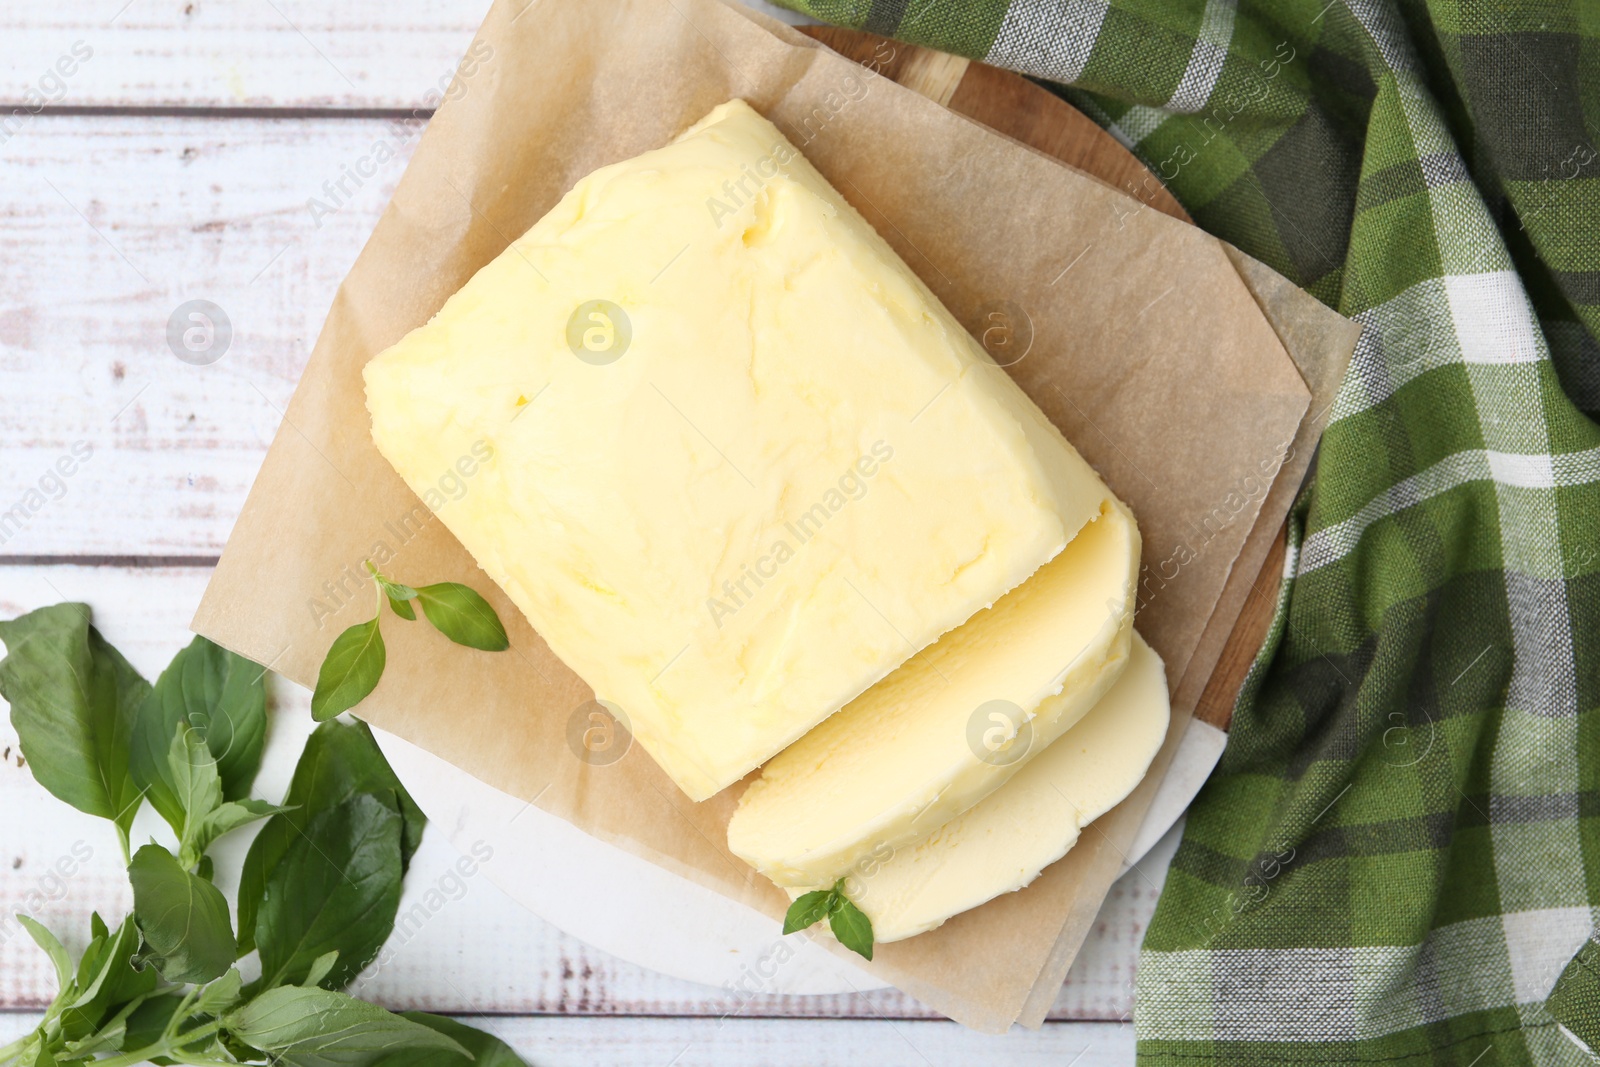
[[[1128,667],[1077,726],[933,837],[883,849],[846,878],[874,939],[920,934],[1030,883],[1144,779],[1170,720],[1162,657],[1134,633]]]

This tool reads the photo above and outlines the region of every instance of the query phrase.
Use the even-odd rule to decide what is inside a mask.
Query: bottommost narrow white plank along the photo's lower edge
[[[594,1019],[458,1016],[498,1035],[539,1067],[942,1067],[1053,1064],[1125,1067],[1133,1025],[1051,1022],[1038,1033],[989,1037],[954,1022],[800,1019]],[[34,1013],[0,1014],[0,1043],[38,1024]],[[805,1049],[803,1053],[798,1049]]]

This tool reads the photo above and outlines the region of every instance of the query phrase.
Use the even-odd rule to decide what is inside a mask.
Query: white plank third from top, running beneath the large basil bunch
[[[206,568],[192,566],[0,566],[0,617],[62,600],[86,601],[107,640],[154,678],[189,640],[187,621],[208,576]],[[278,797],[288,787],[310,728],[307,693],[280,678],[274,683],[274,725],[256,790],[264,797]],[[3,702],[0,709],[8,710]],[[0,811],[5,813],[0,824],[0,1009],[38,1008],[53,995],[53,974],[13,913],[37,915],[70,934],[74,947],[82,947],[90,912],[123,913],[130,904],[128,888],[110,827],[67,808],[32,781],[18,760],[8,715],[0,721]],[[166,833],[149,809],[134,827],[136,838],[146,833],[162,838]],[[229,840],[218,869],[232,872],[237,862],[229,856],[240,856],[246,841],[248,835]],[[422,904],[427,920],[392,942],[390,955],[362,981],[363,995],[400,1008],[491,1014],[930,1017],[925,1008],[894,990],[850,997],[749,997],[645,971],[530,915],[485,877],[453,877],[456,859],[442,833],[424,838],[402,910]],[[1160,857],[1141,867],[1114,886],[1051,1017],[1128,1017],[1138,947],[1165,875]],[[429,889],[437,889],[438,896],[427,897]],[[667,1059],[670,1054],[656,1062]]]

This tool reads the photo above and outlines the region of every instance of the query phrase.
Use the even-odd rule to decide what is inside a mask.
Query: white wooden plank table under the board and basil
[[[426,112],[414,112],[486,0],[6,6],[0,617],[88,601],[154,678],[187,641],[333,293],[416,144]],[[307,200],[328,202],[323,184],[379,141],[395,160],[358,187],[346,178],[342,206],[314,216]],[[232,326],[206,366],[168,346],[168,318],[190,299],[218,304]],[[90,458],[40,486],[75,445]],[[24,514],[5,522],[19,502]],[[267,797],[286,787],[309,725],[307,694],[275,681]],[[109,825],[34,784],[10,721],[0,750],[3,1043],[53,995],[13,913],[72,931],[80,947],[88,913],[120,915],[130,894]],[[486,878],[448,880],[456,856],[440,833],[418,853],[402,910],[430,889],[446,902],[358,992],[477,1016],[536,1064],[1128,1064],[1133,968],[1174,845],[1171,833],[1112,889],[1038,1033],[974,1035],[893,990],[746,998],[645,971]]]

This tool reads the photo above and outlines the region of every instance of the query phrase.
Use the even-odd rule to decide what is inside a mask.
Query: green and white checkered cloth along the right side
[[[1141,1062],[1594,1062],[1600,0],[789,2],[1040,78],[1365,326]]]

